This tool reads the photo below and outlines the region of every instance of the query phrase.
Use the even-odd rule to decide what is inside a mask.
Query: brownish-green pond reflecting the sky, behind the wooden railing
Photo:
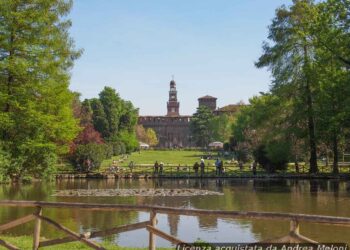
[[[134,197],[60,197],[58,190],[68,189],[181,189],[196,188],[223,195],[210,196],[134,196]],[[0,199],[87,202],[110,204],[146,204],[178,208],[220,209],[239,211],[291,212],[350,217],[350,181],[334,180],[61,180],[30,185],[2,185]],[[0,222],[24,216],[33,209],[0,208]],[[76,232],[103,230],[118,225],[149,219],[144,212],[93,212],[69,209],[44,209],[53,218]],[[215,217],[158,215],[157,227],[184,241],[255,242],[286,235],[287,221],[234,220]],[[32,235],[33,223],[8,231],[11,235]],[[322,242],[350,243],[350,228],[302,223],[301,234]],[[42,234],[48,239],[63,236],[43,224]],[[104,239],[120,246],[147,247],[148,232],[136,230]],[[157,238],[157,246],[170,243]]]

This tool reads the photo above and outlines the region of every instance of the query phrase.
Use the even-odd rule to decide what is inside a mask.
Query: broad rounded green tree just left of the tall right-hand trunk
[[[233,125],[236,155],[242,159],[249,152],[268,172],[284,169],[292,153],[294,134],[290,108],[273,94],[264,93],[249,102]]]

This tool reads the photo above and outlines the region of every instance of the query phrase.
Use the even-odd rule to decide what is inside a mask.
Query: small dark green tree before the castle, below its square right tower
[[[208,107],[199,106],[197,108],[190,122],[191,133],[197,146],[207,147],[211,142],[213,135],[210,124],[213,118],[214,115]]]

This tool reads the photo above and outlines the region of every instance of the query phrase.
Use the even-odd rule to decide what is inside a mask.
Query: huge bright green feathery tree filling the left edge
[[[0,1],[0,138],[13,178],[47,175],[78,133],[69,69],[72,1]],[[64,17],[64,19],[63,19]]]

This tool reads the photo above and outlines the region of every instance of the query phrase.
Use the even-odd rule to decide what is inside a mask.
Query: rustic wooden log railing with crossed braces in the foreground
[[[91,203],[67,203],[67,202],[43,202],[43,201],[0,201],[1,207],[32,207],[32,214],[18,218],[16,220],[0,225],[0,232],[10,228],[25,224],[30,221],[35,221],[33,249],[41,247],[53,246],[73,241],[80,241],[92,249],[105,249],[91,239],[103,237],[112,234],[132,231],[136,229],[146,229],[149,231],[149,249],[156,249],[155,236],[161,237],[173,244],[186,244],[182,240],[167,234],[156,228],[157,214],[176,214],[187,216],[214,216],[220,218],[234,219],[249,219],[249,220],[287,220],[290,221],[289,233],[283,237],[276,239],[268,239],[262,241],[268,243],[317,243],[299,233],[300,222],[320,223],[337,226],[350,226],[350,218],[291,214],[291,213],[272,213],[272,212],[242,212],[242,211],[220,211],[220,210],[202,210],[202,209],[183,209],[161,206],[143,206],[143,205],[114,205],[114,204],[91,204]],[[113,227],[107,230],[76,233],[66,228],[60,223],[43,216],[43,209],[48,208],[69,208],[69,209],[87,209],[91,211],[141,211],[149,212],[150,218],[148,221]],[[67,234],[66,237],[56,238],[51,240],[40,241],[41,223],[45,222],[59,231]],[[0,245],[7,249],[19,249],[18,247],[0,239]]]

